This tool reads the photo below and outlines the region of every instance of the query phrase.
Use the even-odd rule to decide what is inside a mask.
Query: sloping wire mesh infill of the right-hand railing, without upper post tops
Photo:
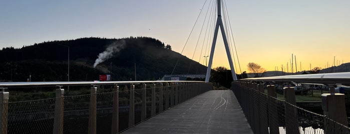
[[[350,133],[348,126],[325,115],[238,84],[232,89],[255,133]]]

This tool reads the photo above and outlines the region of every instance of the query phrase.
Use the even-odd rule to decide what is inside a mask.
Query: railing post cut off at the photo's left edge
[[[9,92],[5,91],[6,88],[0,88],[0,128],[1,133],[8,133],[8,115],[9,115]]]

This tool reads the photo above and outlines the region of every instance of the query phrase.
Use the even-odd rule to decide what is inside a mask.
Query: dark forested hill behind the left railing
[[[109,74],[110,70],[112,80],[135,80],[135,64],[137,80],[171,74],[177,61],[174,74],[206,71],[204,65],[172,51],[170,45],[155,38],[85,37],[3,48],[0,50],[0,80],[26,81],[31,75],[31,81],[66,81],[68,46],[70,81],[97,80],[99,74]],[[106,55],[106,51],[111,55]],[[102,56],[111,57],[94,67],[102,52]]]

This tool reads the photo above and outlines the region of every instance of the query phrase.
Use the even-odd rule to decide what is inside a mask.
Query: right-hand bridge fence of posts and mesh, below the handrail
[[[339,111],[345,110],[334,111],[341,105],[344,107],[341,99],[333,101],[329,96],[328,100],[323,99],[327,106],[323,110],[327,113],[320,115],[296,106],[293,87],[285,88],[285,100],[280,100],[276,98],[274,85],[247,81],[236,81],[231,85],[254,133],[350,133],[347,122],[343,121],[346,116],[339,119],[332,115],[342,114]],[[264,88],[267,88],[267,94]]]

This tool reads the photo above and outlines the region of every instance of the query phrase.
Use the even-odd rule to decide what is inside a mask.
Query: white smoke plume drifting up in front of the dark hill
[[[98,55],[98,58],[95,60],[95,63],[94,63],[94,68],[99,63],[111,58],[115,52],[118,52],[121,49],[123,49],[124,45],[125,45],[125,40],[116,41],[116,42],[109,44],[109,46],[106,48],[106,50],[101,52]]]

